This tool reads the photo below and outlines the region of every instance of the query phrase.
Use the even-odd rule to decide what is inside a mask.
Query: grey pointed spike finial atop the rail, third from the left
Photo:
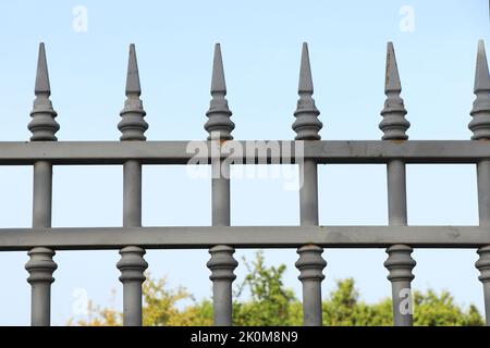
[[[232,112],[228,108],[226,98],[224,98],[226,96],[226,84],[224,82],[220,44],[215,46],[211,96],[209,110],[206,112],[209,120],[205,123],[205,129],[209,133],[208,140],[231,140],[233,139],[231,133],[235,128],[235,124],[230,120]]]

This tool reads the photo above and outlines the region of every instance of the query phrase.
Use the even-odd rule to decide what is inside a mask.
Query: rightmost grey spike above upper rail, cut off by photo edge
[[[476,99],[473,102],[471,122],[468,128],[473,132],[473,140],[490,138],[490,76],[483,40],[478,41],[478,53],[475,72]]]

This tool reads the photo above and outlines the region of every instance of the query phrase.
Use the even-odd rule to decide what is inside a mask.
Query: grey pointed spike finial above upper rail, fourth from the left
[[[318,120],[320,111],[315,105],[313,99],[314,88],[311,78],[311,67],[309,65],[308,45],[303,42],[302,63],[299,67],[299,83],[296,111],[294,116],[296,121],[293,123],[293,130],[296,132],[296,140],[319,140],[319,130],[323,124]]]

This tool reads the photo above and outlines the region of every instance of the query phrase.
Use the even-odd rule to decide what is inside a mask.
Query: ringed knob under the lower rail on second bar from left
[[[119,251],[121,260],[117,266],[121,271],[119,279],[126,284],[126,282],[145,282],[145,270],[148,268],[148,263],[143,256],[146,253],[144,249],[139,247],[125,247]]]

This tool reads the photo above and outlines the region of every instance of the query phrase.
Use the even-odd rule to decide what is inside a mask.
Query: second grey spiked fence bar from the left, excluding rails
[[[130,46],[127,63],[126,101],[121,111],[122,120],[118,124],[122,141],[144,141],[148,124],[143,102],[139,99],[142,88],[134,45]],[[123,226],[142,226],[142,164],[130,160],[123,166]],[[142,316],[142,284],[145,282],[145,270],[148,263],[144,259],[145,249],[137,246],[122,248],[121,260],[117,266],[121,271],[120,281],[123,284],[123,322],[124,326],[140,326]]]

